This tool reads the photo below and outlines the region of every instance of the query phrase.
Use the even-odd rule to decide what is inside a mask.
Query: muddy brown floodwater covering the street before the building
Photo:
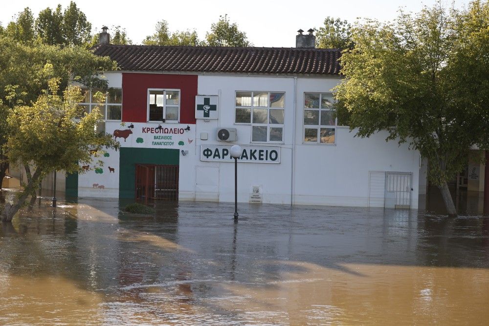
[[[234,223],[228,203],[49,204],[0,223],[0,325],[489,319],[487,217],[240,204]]]

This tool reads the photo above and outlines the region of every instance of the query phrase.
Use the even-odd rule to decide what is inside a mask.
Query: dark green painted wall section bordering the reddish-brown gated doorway
[[[178,150],[122,147],[119,151],[119,198],[134,198],[136,164],[178,165],[180,162]]]

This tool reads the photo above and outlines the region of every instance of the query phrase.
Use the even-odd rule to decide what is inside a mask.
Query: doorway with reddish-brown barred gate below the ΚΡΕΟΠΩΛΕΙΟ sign
[[[178,201],[178,165],[136,164],[135,198]]]

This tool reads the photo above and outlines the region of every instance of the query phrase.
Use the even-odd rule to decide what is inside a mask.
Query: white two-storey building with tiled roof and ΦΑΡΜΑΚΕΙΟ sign
[[[333,118],[339,50],[100,44],[95,53],[121,69],[106,74],[105,107],[121,149],[104,153],[101,169],[68,175],[67,196],[234,201],[228,150],[239,144],[240,202],[418,208],[419,152],[384,132],[356,138]],[[223,129],[237,139],[218,140]]]

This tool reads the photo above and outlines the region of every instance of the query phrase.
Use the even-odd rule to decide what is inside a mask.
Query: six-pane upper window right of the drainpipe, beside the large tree
[[[304,143],[334,144],[333,103],[331,93],[304,93]]]

